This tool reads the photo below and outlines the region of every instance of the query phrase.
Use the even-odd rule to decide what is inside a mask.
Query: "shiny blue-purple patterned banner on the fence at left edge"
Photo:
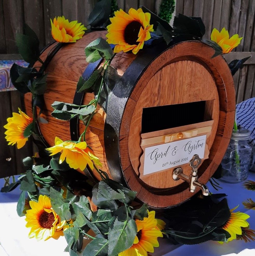
[[[0,60],[0,92],[16,90],[10,79],[10,69],[14,62],[23,67],[28,66],[23,60]]]

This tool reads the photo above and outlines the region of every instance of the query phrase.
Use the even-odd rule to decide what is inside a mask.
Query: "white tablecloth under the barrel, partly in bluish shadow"
[[[255,180],[255,173],[250,173],[248,180]],[[219,193],[228,195],[227,199],[230,208],[234,208],[239,204],[238,210],[251,216],[248,222],[250,223],[250,228],[255,229],[255,211],[245,209],[242,204],[242,201],[247,198],[255,200],[255,192],[245,189],[242,183],[222,183],[223,189]],[[3,184],[4,180],[0,179],[0,187]],[[207,185],[211,192],[217,193],[210,184]],[[36,241],[33,238],[28,238],[29,229],[25,227],[25,217],[18,217],[16,213],[19,194],[19,188],[9,193],[0,193],[0,256],[68,256],[69,253],[63,252],[66,247],[64,237],[47,241]],[[186,254],[189,256],[255,255],[255,241],[245,243],[244,241],[233,240],[224,245],[208,241],[199,245],[175,246],[170,244],[167,239],[160,239],[159,244],[160,247],[155,248],[152,256],[184,256]]]

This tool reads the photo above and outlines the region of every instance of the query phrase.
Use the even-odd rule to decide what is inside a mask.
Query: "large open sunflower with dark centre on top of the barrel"
[[[132,50],[133,54],[137,54],[143,48],[144,41],[151,38],[150,31],[153,31],[153,25],[150,25],[150,13],[144,13],[141,8],[131,8],[128,14],[122,9],[114,14],[115,16],[110,18],[111,24],[107,26],[106,41],[116,44],[114,52]]]

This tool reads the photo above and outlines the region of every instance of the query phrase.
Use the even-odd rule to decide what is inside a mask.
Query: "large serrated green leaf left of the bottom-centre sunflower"
[[[130,219],[127,223],[115,220],[113,228],[109,229],[108,255],[115,256],[133,245],[137,234],[136,222]]]

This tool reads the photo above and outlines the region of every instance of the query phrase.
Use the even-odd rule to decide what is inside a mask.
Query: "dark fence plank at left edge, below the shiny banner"
[[[0,118],[0,127],[3,127],[7,121],[6,119],[11,116],[11,109],[10,109],[10,92],[5,91],[1,93],[1,118]],[[16,154],[15,154],[15,147],[8,146],[8,142],[5,140],[5,129],[1,129],[0,133],[0,178],[17,174],[16,173]],[[6,160],[7,159],[7,160]]]

